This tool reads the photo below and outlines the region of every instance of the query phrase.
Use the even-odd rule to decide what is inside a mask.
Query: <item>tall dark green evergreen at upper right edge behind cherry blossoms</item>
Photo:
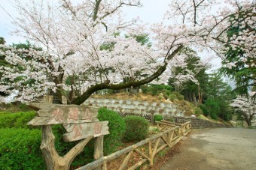
[[[239,6],[242,9],[242,6]],[[245,10],[239,15],[230,16],[230,28],[227,29],[227,40],[232,43],[242,42],[242,39],[250,40],[256,34],[255,13],[252,9]],[[255,40],[255,39],[254,39]],[[251,41],[251,47],[255,43]],[[254,58],[254,48],[244,48],[244,46],[231,46],[226,43],[224,50],[224,60],[221,72],[234,79],[236,82],[236,92],[248,94],[248,89],[256,87],[256,58]]]

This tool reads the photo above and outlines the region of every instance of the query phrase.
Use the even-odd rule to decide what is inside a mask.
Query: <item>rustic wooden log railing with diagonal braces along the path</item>
[[[154,164],[154,157],[162,151],[164,148],[172,148],[177,144],[183,136],[191,130],[191,123],[186,122],[184,124],[176,124],[169,121],[157,121],[157,127],[160,133],[151,136],[141,142],[124,148],[121,151],[117,151],[106,157],[99,158],[99,160],[89,163],[86,166],[82,166],[77,170],[90,170],[90,169],[113,169],[111,168],[111,161],[117,160],[120,163],[118,168],[114,169],[137,169],[142,166],[143,163],[148,162],[150,166]]]

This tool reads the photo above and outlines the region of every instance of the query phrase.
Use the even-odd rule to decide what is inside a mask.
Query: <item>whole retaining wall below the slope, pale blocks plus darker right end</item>
[[[96,99],[89,98],[84,103],[87,106],[106,107],[119,113],[121,117],[127,115],[137,115],[151,120],[151,113],[163,115],[163,118],[174,118],[176,123],[191,121],[192,128],[204,127],[231,127],[229,124],[218,124],[200,118],[184,118],[184,111],[178,109],[173,103],[157,103],[140,100],[115,100],[115,99]]]

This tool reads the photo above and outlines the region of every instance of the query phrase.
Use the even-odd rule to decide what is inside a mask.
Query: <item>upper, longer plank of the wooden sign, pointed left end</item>
[[[42,107],[43,109],[37,112],[38,116],[29,121],[28,125],[81,124],[98,120],[96,118],[98,115],[97,107],[48,105],[44,103],[42,106],[49,106],[50,108]]]

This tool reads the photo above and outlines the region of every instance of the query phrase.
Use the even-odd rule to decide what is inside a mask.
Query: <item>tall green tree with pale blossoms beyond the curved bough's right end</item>
[[[198,99],[202,103],[208,79],[206,70],[209,66],[203,64],[197,52],[188,47],[182,49],[174,60],[169,85],[172,85],[175,91],[183,94],[186,100],[197,103]]]

